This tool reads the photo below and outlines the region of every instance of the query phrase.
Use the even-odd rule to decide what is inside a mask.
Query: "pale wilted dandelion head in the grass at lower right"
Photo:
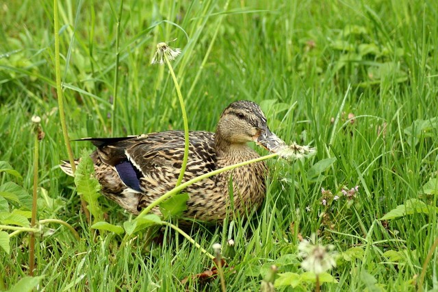
[[[333,245],[320,245],[316,241],[316,235],[312,234],[310,240],[303,240],[298,245],[299,256],[303,258],[301,267],[311,271],[315,275],[329,271],[336,267],[335,252]]]

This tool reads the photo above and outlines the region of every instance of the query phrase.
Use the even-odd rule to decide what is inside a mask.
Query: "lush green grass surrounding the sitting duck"
[[[337,267],[329,271],[339,283],[323,284],[324,291],[419,289],[415,282],[438,236],[437,186],[423,188],[437,178],[435,1],[242,0],[228,6],[213,0],[124,1],[120,34],[118,1],[112,3],[114,12],[106,2],[68,0],[59,5],[71,139],[182,130],[168,69],[150,64],[158,42],[177,38],[170,45],[181,47],[183,54],[172,66],[190,130],[214,131],[228,104],[250,99],[261,105],[272,132],[287,142],[318,147],[309,160],[268,162],[266,202],[251,220],[230,218],[224,226],[192,230],[193,239],[211,253],[212,244],[221,242],[225,249],[229,238],[235,241],[233,252],[224,250],[233,267],[224,269],[228,291],[258,291],[273,264],[279,274],[304,273],[297,245],[300,236],[312,232],[318,232],[324,245],[335,245],[339,254]],[[38,114],[45,132],[38,219],[67,221],[81,236],[78,243],[57,224],[44,227],[53,228],[51,234],[37,236],[35,274],[44,276],[40,289],[220,289],[219,278],[205,285],[197,280],[181,284],[213,263],[170,228],[164,229],[162,245],[144,246],[142,233],[125,248],[120,248],[122,237],[112,232],[94,237],[73,180],[57,168],[68,156],[55,90],[53,2],[7,1],[0,18],[0,160],[23,177],[0,173],[0,186],[15,182],[31,193],[31,116]],[[349,113],[355,118],[348,120]],[[92,150],[88,143],[72,147],[75,156],[81,149]],[[359,186],[359,193],[349,201],[341,196],[344,186]],[[324,206],[321,188],[341,198],[328,198],[329,206]],[[379,220],[409,199],[429,207]],[[25,204],[4,202],[0,200],[0,224],[7,225],[8,212],[25,210]],[[130,218],[105,198],[99,202],[107,222],[122,226]],[[28,245],[23,232],[11,237],[10,254],[0,249],[0,290],[27,275]],[[424,291],[438,289],[437,253],[432,252]],[[311,282],[296,287],[314,288]]]

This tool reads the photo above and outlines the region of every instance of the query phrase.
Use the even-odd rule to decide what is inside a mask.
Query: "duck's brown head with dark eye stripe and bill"
[[[284,142],[270,132],[266,117],[258,104],[253,101],[235,101],[222,112],[216,129],[216,141],[229,144],[244,144],[254,141],[258,145],[274,151]]]

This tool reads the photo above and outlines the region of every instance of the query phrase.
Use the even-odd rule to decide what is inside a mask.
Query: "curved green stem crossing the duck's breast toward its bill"
[[[140,215],[138,215],[138,216],[140,217],[141,215],[146,215],[147,213],[151,212],[151,210],[155,206],[158,206],[159,204],[164,202],[169,197],[172,197],[172,195],[176,195],[180,191],[183,191],[184,188],[187,188],[188,186],[190,186],[191,184],[194,184],[195,182],[199,182],[200,180],[203,180],[205,178],[209,178],[210,176],[222,173],[224,171],[229,171],[231,169],[235,169],[236,167],[242,167],[244,165],[249,165],[250,163],[267,160],[267,159],[270,159],[270,158],[274,158],[276,156],[279,156],[279,154],[277,154],[277,153],[268,154],[266,156],[261,156],[261,157],[254,158],[254,159],[251,159],[251,160],[246,160],[244,162],[236,163],[235,165],[229,165],[228,167],[222,167],[221,169],[216,169],[214,171],[210,171],[209,173],[205,173],[203,175],[199,175],[198,177],[193,178],[192,180],[189,180],[188,182],[184,182],[183,184],[181,184],[179,186],[176,186],[175,188],[172,188],[172,190],[168,191],[167,193],[165,193],[164,195],[162,195],[161,197],[156,199],[154,202],[152,202],[149,206],[144,208],[142,210],[142,212],[140,212]]]

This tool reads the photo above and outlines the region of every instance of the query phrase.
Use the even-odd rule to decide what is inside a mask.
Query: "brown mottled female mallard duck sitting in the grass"
[[[259,157],[250,141],[270,149],[279,141],[270,132],[266,117],[253,101],[235,101],[222,112],[216,133],[190,132],[187,169],[183,182],[237,162]],[[123,138],[85,138],[96,151],[91,154],[103,195],[138,214],[175,187],[184,154],[184,132],[166,131]],[[68,162],[61,166],[72,175]],[[256,162],[214,175],[183,191],[190,195],[183,217],[201,221],[224,219],[233,184],[233,212],[244,215],[259,208],[266,195],[265,162]],[[153,210],[159,213],[159,209]]]

